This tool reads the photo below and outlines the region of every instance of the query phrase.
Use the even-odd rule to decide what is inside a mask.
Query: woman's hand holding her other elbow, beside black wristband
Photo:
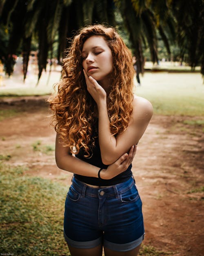
[[[136,154],[137,145],[131,147],[129,153],[125,153],[120,158],[109,165],[107,169],[102,169],[100,172],[101,179],[112,179],[121,172],[127,170],[128,166],[132,163],[133,158]]]

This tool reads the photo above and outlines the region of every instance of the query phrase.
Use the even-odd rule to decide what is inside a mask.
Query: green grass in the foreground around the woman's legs
[[[25,167],[0,162],[0,252],[18,256],[69,256],[63,237],[67,188],[24,175]],[[171,255],[142,245],[141,256]]]

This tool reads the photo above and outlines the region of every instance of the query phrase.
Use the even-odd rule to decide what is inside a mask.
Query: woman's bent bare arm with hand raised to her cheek
[[[122,134],[115,137],[110,129],[106,92],[92,77],[86,77],[86,85],[87,90],[98,105],[98,129],[102,162],[110,165],[122,154],[129,152],[132,145],[138,143],[149,124],[153,107],[148,100],[135,96],[133,99],[133,113],[128,127]]]

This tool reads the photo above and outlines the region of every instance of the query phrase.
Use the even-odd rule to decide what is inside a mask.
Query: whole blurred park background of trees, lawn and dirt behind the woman
[[[118,29],[135,93],[154,114],[133,161],[146,235],[140,256],[204,251],[204,1],[0,0],[0,253],[70,255],[46,102],[78,29]]]

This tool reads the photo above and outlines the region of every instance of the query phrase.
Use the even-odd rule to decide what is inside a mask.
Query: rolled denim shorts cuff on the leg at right
[[[136,240],[132,242],[128,242],[126,244],[116,244],[116,243],[104,240],[104,247],[111,249],[112,251],[131,251],[135,249],[137,246],[139,246],[143,240],[144,240],[144,234],[140,236],[140,238],[137,238]]]

